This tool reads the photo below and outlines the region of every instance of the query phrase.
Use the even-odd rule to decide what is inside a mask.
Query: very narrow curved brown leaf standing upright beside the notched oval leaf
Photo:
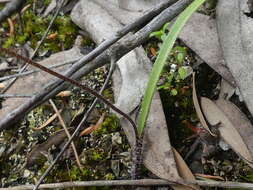
[[[199,105],[199,101],[198,101],[198,97],[197,97],[197,92],[196,92],[196,84],[195,84],[195,73],[193,72],[192,74],[192,99],[193,99],[193,104],[196,110],[196,113],[198,115],[199,121],[202,124],[202,126],[212,135],[212,136],[216,136],[215,134],[213,134],[207,123],[206,120],[203,116],[203,113],[201,111],[200,105]]]

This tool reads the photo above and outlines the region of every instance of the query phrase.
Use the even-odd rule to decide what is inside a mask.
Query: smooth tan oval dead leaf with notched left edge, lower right
[[[201,97],[201,107],[203,114],[211,125],[219,123],[218,130],[221,138],[231,146],[231,148],[248,162],[252,162],[252,155],[234,126],[234,123],[227,115],[208,98]]]

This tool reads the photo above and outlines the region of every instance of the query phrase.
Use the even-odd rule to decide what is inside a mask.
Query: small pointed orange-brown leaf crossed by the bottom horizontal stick
[[[188,168],[187,164],[185,163],[184,159],[181,155],[176,151],[176,149],[172,148],[174,153],[174,158],[177,164],[177,170],[184,180],[193,181],[195,180],[194,175],[192,174],[191,170]],[[183,185],[173,185],[173,189],[175,190],[192,190],[192,189],[200,189],[197,185],[191,185],[190,187],[183,186]]]

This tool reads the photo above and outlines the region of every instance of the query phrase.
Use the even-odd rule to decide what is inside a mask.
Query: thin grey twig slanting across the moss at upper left
[[[20,0],[21,1],[21,0]],[[52,20],[50,21],[48,27],[47,27],[47,30],[45,31],[44,35],[42,36],[41,40],[39,41],[39,43],[37,44],[35,50],[33,51],[32,55],[30,56],[30,59],[33,59],[34,56],[36,55],[37,51],[39,50],[40,46],[42,45],[42,43],[44,42],[44,40],[46,39],[48,33],[49,33],[49,30],[51,29],[56,17],[58,16],[62,6],[63,6],[63,3],[64,3],[64,0],[60,1],[60,4],[58,6],[58,9],[57,11],[55,12]],[[19,71],[19,74],[24,72],[26,70],[26,68],[28,67],[29,64],[25,64]],[[9,84],[2,90],[2,93],[6,92],[11,86],[12,84],[17,80],[17,78],[13,78]]]

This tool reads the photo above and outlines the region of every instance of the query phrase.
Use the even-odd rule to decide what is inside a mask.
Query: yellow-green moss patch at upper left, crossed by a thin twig
[[[14,43],[24,44],[31,41],[33,48],[36,47],[39,40],[44,35],[52,16],[42,18],[37,16],[32,10],[27,10],[23,15],[24,33],[18,32],[20,27],[18,23],[15,24],[15,36],[7,38],[4,47],[8,48]],[[8,30],[8,24],[3,25],[5,30]],[[57,52],[64,49],[69,49],[73,45],[77,36],[77,26],[71,21],[70,16],[58,16],[55,20],[50,33],[57,33],[53,39],[46,39],[42,44],[42,50],[51,50]]]

